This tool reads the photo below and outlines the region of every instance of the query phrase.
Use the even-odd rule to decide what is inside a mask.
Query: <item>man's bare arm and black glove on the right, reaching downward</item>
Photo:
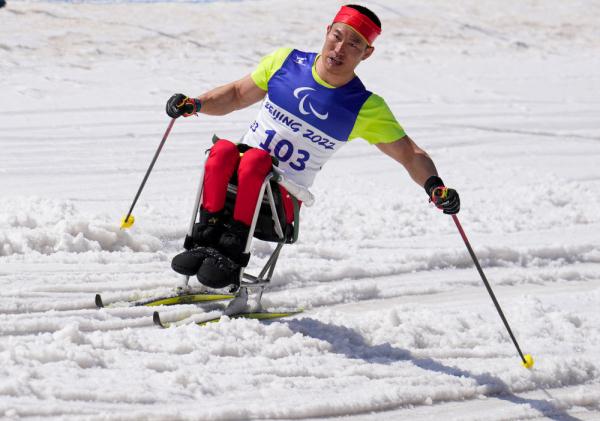
[[[446,214],[455,214],[460,210],[460,198],[454,189],[444,186],[438,176],[435,164],[423,149],[410,137],[390,143],[377,143],[380,151],[401,163],[415,182],[425,189],[435,205]]]

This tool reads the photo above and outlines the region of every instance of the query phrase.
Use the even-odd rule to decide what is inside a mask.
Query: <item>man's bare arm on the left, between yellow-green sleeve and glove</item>
[[[208,115],[229,114],[257,103],[265,94],[266,91],[256,86],[252,77],[248,75],[200,95],[200,112]]]

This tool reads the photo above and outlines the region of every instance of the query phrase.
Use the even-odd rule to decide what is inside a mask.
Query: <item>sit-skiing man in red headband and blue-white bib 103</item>
[[[406,135],[385,101],[368,91],[354,73],[373,54],[373,42],[380,34],[381,22],[372,11],[342,6],[327,26],[320,54],[281,48],[240,80],[196,98],[175,94],[168,100],[167,114],[172,118],[225,115],[263,101],[240,142],[241,156],[240,146],[228,140],[219,140],[210,150],[194,235],[199,247],[175,256],[174,270],[195,274],[213,288],[237,283],[240,268],[248,263],[243,251],[273,158],[287,180],[308,188],[325,162],[355,138],[365,139],[402,164],[444,213],[459,211],[458,193],[444,186],[431,158]],[[234,173],[238,193],[228,221],[223,211]],[[282,198],[290,222],[291,199],[283,189]]]

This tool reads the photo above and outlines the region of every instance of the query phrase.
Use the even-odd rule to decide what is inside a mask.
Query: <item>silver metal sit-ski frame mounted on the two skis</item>
[[[200,174],[200,183],[198,186],[198,191],[196,193],[196,200],[194,201],[194,211],[192,213],[192,219],[190,221],[190,225],[189,225],[189,229],[188,229],[188,235],[190,237],[192,237],[194,224],[196,224],[196,222],[198,220],[200,204],[202,203],[202,197],[203,197],[203,192],[204,192],[204,167],[205,166],[203,165],[202,171]],[[255,308],[253,309],[253,311],[261,311],[262,310],[262,306],[261,306],[262,294],[265,290],[265,287],[271,281],[271,277],[273,276],[273,271],[275,270],[275,265],[277,264],[277,259],[279,258],[279,253],[281,252],[281,249],[283,248],[283,246],[286,242],[285,234],[283,233],[283,228],[281,227],[281,223],[279,222],[279,215],[277,213],[277,206],[275,205],[273,189],[271,188],[271,181],[278,181],[278,180],[279,180],[279,176],[272,171],[269,174],[267,174],[267,176],[265,177],[265,179],[260,187],[260,191],[258,194],[258,200],[256,202],[256,208],[254,209],[254,215],[252,217],[252,224],[250,225],[248,240],[246,241],[246,247],[244,248],[244,253],[250,253],[250,246],[252,245],[252,239],[254,238],[254,231],[256,230],[256,223],[258,221],[258,216],[260,214],[261,206],[265,200],[271,208],[271,215],[273,218],[275,233],[279,237],[280,241],[277,243],[277,246],[275,247],[275,250],[271,254],[271,257],[269,257],[269,259],[267,260],[267,263],[265,263],[265,266],[262,268],[262,270],[260,271],[258,276],[254,276],[254,275],[245,273],[245,270],[244,270],[245,268],[243,268],[243,267],[241,268],[241,270],[240,270],[240,286],[235,291],[236,298],[234,298],[229,303],[229,305],[225,309],[225,314],[234,314],[236,312],[242,311],[246,307],[247,302],[248,302],[248,289],[258,289],[256,304],[255,304]],[[229,184],[227,187],[227,190],[229,192],[235,194],[237,192],[237,187]],[[266,198],[265,198],[265,192],[267,194]],[[296,215],[296,219],[297,219],[297,215]],[[298,220],[294,220],[294,224],[296,224],[296,227],[295,227],[296,230],[297,230],[298,222],[299,222]],[[296,235],[297,235],[297,231],[296,231],[295,236]],[[188,287],[189,279],[190,279],[189,276],[185,276],[185,284],[184,284],[183,288]]]

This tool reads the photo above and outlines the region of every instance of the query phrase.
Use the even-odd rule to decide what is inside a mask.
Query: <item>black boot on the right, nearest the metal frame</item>
[[[201,284],[211,288],[240,284],[240,271],[250,259],[250,254],[244,253],[249,231],[247,225],[233,221],[217,244],[220,255],[206,258],[200,266],[197,277]]]

